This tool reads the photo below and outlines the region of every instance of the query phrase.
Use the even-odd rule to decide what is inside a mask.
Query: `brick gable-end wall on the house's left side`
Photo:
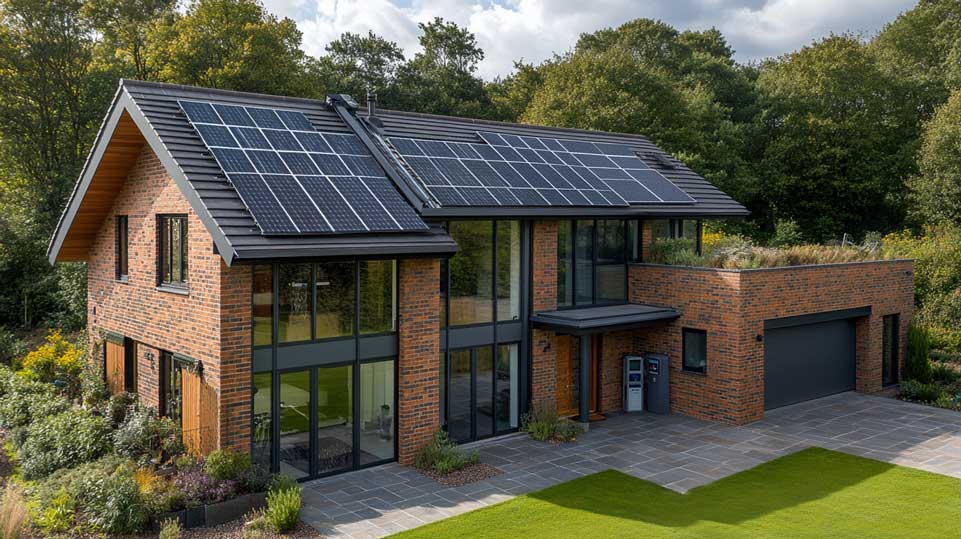
[[[188,217],[189,291],[157,288],[157,216]],[[128,282],[116,280],[115,217],[128,216]],[[138,393],[159,404],[160,350],[203,363],[204,382],[219,395],[219,445],[249,449],[250,268],[228,268],[213,239],[144,147],[117,194],[90,249],[88,330],[120,333],[137,341]],[[243,401],[243,402],[241,402]]]

